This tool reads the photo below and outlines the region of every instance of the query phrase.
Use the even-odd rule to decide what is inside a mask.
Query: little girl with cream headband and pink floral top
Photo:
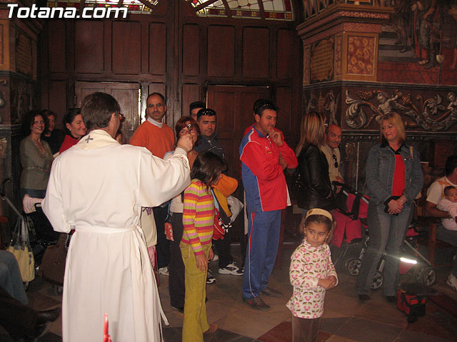
[[[293,342],[314,342],[321,326],[326,290],[338,284],[327,244],[333,218],[326,210],[311,209],[300,227],[305,237],[291,256],[293,295],[287,307],[292,313]]]

